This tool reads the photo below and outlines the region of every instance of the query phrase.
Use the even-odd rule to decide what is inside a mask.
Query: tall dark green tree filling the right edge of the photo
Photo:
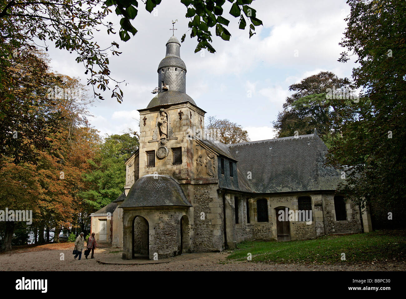
[[[397,224],[404,225],[406,5],[397,0],[347,3],[351,13],[340,44],[348,52],[341,53],[339,61],[356,56],[359,66],[352,76],[365,100],[360,100],[359,117],[343,124],[343,138],[330,148],[328,163],[350,166],[348,183],[341,189],[360,205],[379,203],[385,223],[397,218]]]

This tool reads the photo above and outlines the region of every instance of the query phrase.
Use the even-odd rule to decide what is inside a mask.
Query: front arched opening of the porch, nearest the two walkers
[[[132,223],[132,258],[136,255],[149,258],[149,224],[141,216],[135,216]]]

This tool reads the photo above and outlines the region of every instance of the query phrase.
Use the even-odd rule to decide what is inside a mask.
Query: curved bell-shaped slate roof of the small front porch
[[[175,179],[168,175],[144,175],[130,188],[120,207],[192,206]]]

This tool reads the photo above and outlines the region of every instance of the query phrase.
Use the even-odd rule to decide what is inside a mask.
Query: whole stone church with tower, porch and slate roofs
[[[222,251],[244,240],[304,240],[371,229],[324,166],[326,145],[310,135],[222,144],[186,94],[186,65],[171,37],[155,97],[140,112],[139,150],[125,162],[125,190],[91,214],[100,244],[123,259]]]

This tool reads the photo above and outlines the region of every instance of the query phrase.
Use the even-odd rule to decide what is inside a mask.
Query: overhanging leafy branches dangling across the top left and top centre
[[[255,26],[262,25],[257,19],[255,9],[248,6],[253,0],[233,0],[230,14],[240,17],[240,29],[245,29],[247,21],[250,37],[255,34]],[[161,0],[145,0],[145,9],[150,13],[161,3]],[[198,45],[195,52],[207,48],[215,52],[209,42],[212,42],[210,28],[216,26],[216,35],[224,40],[229,40],[231,34],[226,27],[229,20],[222,17],[222,6],[225,0],[181,0],[187,8],[186,17],[192,21],[188,26],[191,29],[190,37],[197,37]],[[136,0],[43,0],[21,2],[6,0],[0,3],[0,77],[6,83],[12,81],[7,72],[13,66],[13,58],[18,57],[23,48],[35,48],[37,39],[43,41],[44,48],[48,50],[47,41],[55,43],[57,48],[69,52],[76,52],[76,61],[82,63],[89,74],[88,85],[93,86],[94,95],[103,100],[101,92],[110,90],[114,82],[112,98],[119,103],[123,100],[120,83],[110,76],[108,51],[112,55],[120,55],[117,49],[119,44],[112,41],[110,46],[103,48],[94,40],[93,31],[104,27],[108,34],[115,34],[114,24],[106,22],[106,17],[112,13],[110,8],[121,16],[119,36],[121,40],[130,39],[130,34],[135,35],[137,30],[131,24],[136,17],[138,1]],[[244,14],[243,14],[244,13]],[[186,34],[182,37],[184,41]],[[109,85],[110,84],[110,85]]]

